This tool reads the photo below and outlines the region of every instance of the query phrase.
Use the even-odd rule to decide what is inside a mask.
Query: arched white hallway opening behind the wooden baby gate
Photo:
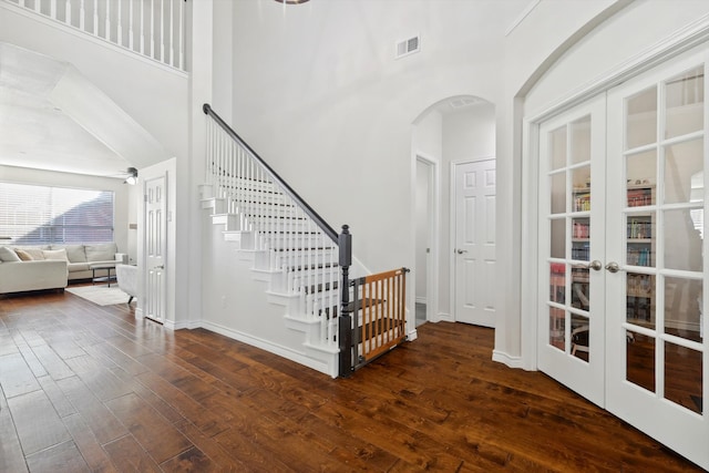
[[[495,105],[474,95],[454,95],[425,109],[413,125],[412,200],[415,200],[415,209],[412,210],[411,230],[415,234],[417,308],[421,316],[427,313],[428,321],[476,323],[470,319],[463,320],[456,313],[456,307],[461,307],[456,297],[461,294],[470,296],[472,292],[461,291],[456,281],[461,271],[456,270],[460,261],[454,257],[458,241],[453,171],[461,163],[494,161]],[[425,186],[424,176],[431,171],[434,174],[433,184]],[[492,179],[494,186],[494,171],[485,173],[487,182]],[[487,200],[492,202],[494,197]],[[429,220],[421,210],[427,203],[430,209]],[[492,212],[481,213],[480,216],[487,217],[487,220],[477,223],[475,227],[487,228],[490,232],[486,235],[494,237],[494,204],[486,208]],[[431,228],[429,234],[423,233],[427,223]],[[429,253],[427,248],[430,248]],[[489,301],[502,297],[499,294],[501,289],[491,279],[494,278],[494,271],[490,271],[490,267],[491,265],[480,267],[480,271],[486,271],[487,276],[476,276],[477,279],[490,282],[489,287],[492,289],[485,294]],[[486,304],[485,307],[487,306],[494,304]],[[494,317],[491,320],[481,325],[494,327]]]

